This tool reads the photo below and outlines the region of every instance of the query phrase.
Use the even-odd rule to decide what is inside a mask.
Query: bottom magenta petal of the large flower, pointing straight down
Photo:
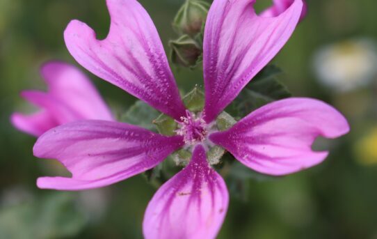
[[[196,146],[189,165],[154,194],[144,216],[145,238],[215,238],[227,212],[223,178]]]

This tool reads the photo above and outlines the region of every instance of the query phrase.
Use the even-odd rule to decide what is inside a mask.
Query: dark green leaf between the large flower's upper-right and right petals
[[[230,111],[242,118],[263,105],[291,97],[287,87],[276,79],[280,73],[281,70],[275,65],[267,65],[243,88],[236,100],[232,102]]]

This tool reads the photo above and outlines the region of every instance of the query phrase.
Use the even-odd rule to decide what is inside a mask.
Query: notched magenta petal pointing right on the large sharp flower
[[[307,169],[326,158],[328,152],[312,151],[316,137],[334,139],[348,131],[344,116],[330,105],[290,98],[257,109],[209,139],[247,167],[279,176]]]

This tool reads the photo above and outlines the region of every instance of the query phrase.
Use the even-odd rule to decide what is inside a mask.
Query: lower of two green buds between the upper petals
[[[184,35],[169,43],[172,48],[170,60],[186,67],[194,67],[202,54],[200,45],[190,36]]]

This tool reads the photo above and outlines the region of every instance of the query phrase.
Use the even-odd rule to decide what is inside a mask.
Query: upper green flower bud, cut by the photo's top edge
[[[209,7],[205,1],[186,0],[175,16],[173,28],[179,34],[195,36],[205,23]]]

